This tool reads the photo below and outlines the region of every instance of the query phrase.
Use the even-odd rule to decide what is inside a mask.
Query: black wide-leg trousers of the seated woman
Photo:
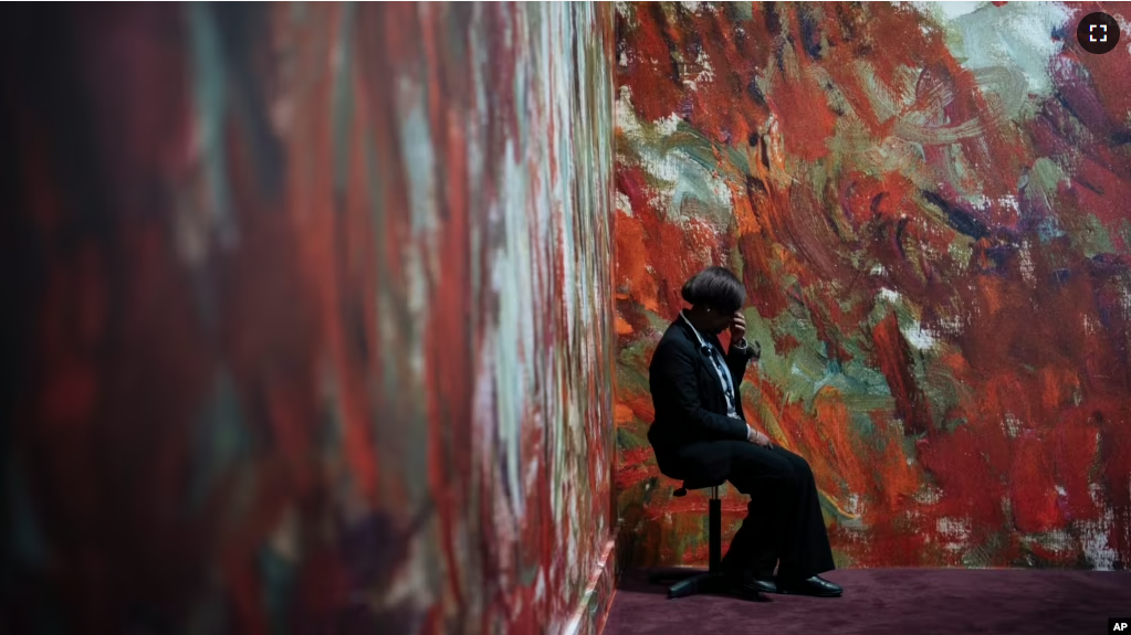
[[[676,454],[687,468],[725,468],[731,485],[751,497],[723,558],[724,569],[768,577],[776,562],[779,579],[804,580],[836,568],[813,471],[804,459],[743,441],[692,443]]]

